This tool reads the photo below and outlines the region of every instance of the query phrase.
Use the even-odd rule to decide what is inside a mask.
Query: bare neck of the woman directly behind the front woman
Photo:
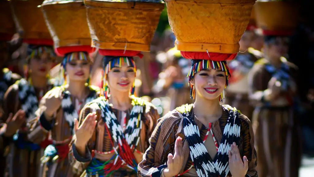
[[[129,92],[110,91],[109,103],[113,108],[125,111],[131,108],[131,98]]]

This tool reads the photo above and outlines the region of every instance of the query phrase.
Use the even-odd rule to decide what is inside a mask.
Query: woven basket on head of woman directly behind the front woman
[[[149,51],[163,3],[84,0],[93,47]]]

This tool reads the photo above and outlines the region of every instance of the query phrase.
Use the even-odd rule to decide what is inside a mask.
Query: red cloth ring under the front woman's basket
[[[208,56],[209,54],[209,56]],[[187,59],[226,61],[236,58],[238,53],[207,53],[207,52],[186,52],[181,51],[181,55]],[[209,58],[210,57],[210,58]]]

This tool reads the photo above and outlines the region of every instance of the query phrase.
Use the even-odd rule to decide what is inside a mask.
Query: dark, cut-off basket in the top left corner
[[[12,17],[10,1],[0,0],[0,33],[14,34],[15,24]]]

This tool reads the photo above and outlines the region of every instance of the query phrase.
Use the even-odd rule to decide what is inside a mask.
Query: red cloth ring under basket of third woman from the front
[[[72,53],[72,52],[87,52],[87,53],[93,53],[95,52],[96,48],[90,47],[88,45],[84,46],[64,46],[64,47],[57,47],[55,48],[55,53],[63,57],[67,53]]]

